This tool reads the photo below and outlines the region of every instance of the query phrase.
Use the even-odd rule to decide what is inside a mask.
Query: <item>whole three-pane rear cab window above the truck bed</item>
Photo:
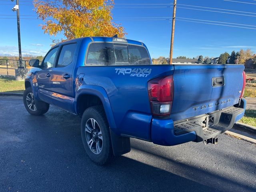
[[[143,46],[113,43],[92,43],[86,56],[86,65],[150,65],[148,51]]]

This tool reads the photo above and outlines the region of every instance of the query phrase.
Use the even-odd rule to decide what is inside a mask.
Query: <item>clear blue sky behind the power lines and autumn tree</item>
[[[196,57],[201,54],[203,56],[217,57],[225,51],[230,53],[232,50],[239,51],[241,48],[250,48],[253,52],[256,52],[256,0],[236,1],[249,2],[251,4],[224,0],[177,0],[179,5],[177,5],[176,11],[177,20],[174,38],[174,58],[177,56]],[[116,5],[112,10],[113,19],[114,22],[120,23],[125,28],[125,31],[128,33],[126,38],[144,42],[148,46],[149,52],[153,58],[159,56],[168,57],[170,50],[171,22],[166,19],[172,17],[172,8],[168,6],[172,6],[170,3],[173,3],[173,0],[115,0],[115,3]],[[11,2],[11,0],[0,1],[0,54],[18,55],[16,19],[6,19],[16,18],[16,12],[12,12],[11,10],[14,5],[15,3]],[[236,10],[240,12],[209,8]],[[32,0],[20,0],[20,28],[23,56],[26,54],[44,55],[50,48],[50,44],[52,43],[51,38],[62,37],[62,35],[50,37],[48,34],[44,34],[39,26],[39,24],[42,24],[41,20],[24,19],[36,17]],[[196,20],[190,20],[195,22],[186,22],[180,20],[188,19],[181,18]],[[199,20],[243,24],[239,26],[246,28],[196,23],[206,22]],[[215,22],[215,24],[223,24],[217,22]]]

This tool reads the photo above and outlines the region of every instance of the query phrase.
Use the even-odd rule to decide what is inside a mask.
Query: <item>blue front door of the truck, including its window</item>
[[[41,63],[41,69],[36,72],[36,80],[38,83],[38,98],[42,101],[52,104],[52,92],[50,77],[52,67],[56,62],[58,47],[52,48],[44,57]]]

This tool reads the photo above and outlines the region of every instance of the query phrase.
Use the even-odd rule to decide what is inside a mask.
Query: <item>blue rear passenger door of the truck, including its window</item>
[[[52,102],[55,106],[69,112],[74,112],[72,102],[76,77],[72,74],[76,60],[76,47],[77,43],[63,44],[51,72]]]

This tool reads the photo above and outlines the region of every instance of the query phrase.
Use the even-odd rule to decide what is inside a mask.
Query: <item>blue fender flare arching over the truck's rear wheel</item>
[[[94,96],[98,96],[98,98],[100,98],[107,119],[108,119],[108,123],[110,128],[116,133],[116,134],[120,134],[116,128],[116,122],[114,120],[114,116],[112,113],[112,108],[108,99],[108,94],[106,92],[106,90],[101,87],[101,86],[96,86],[96,85],[82,85],[78,88],[77,92],[76,92],[76,98],[75,98],[75,111],[76,114],[78,114],[77,111],[77,100],[79,98],[79,96],[83,95],[83,94],[90,94],[90,95],[94,95]]]

